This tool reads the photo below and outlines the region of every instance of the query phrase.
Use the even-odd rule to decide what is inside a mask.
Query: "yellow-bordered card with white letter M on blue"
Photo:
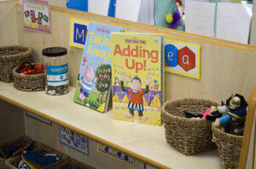
[[[89,22],[70,19],[69,45],[76,48],[84,48]]]

